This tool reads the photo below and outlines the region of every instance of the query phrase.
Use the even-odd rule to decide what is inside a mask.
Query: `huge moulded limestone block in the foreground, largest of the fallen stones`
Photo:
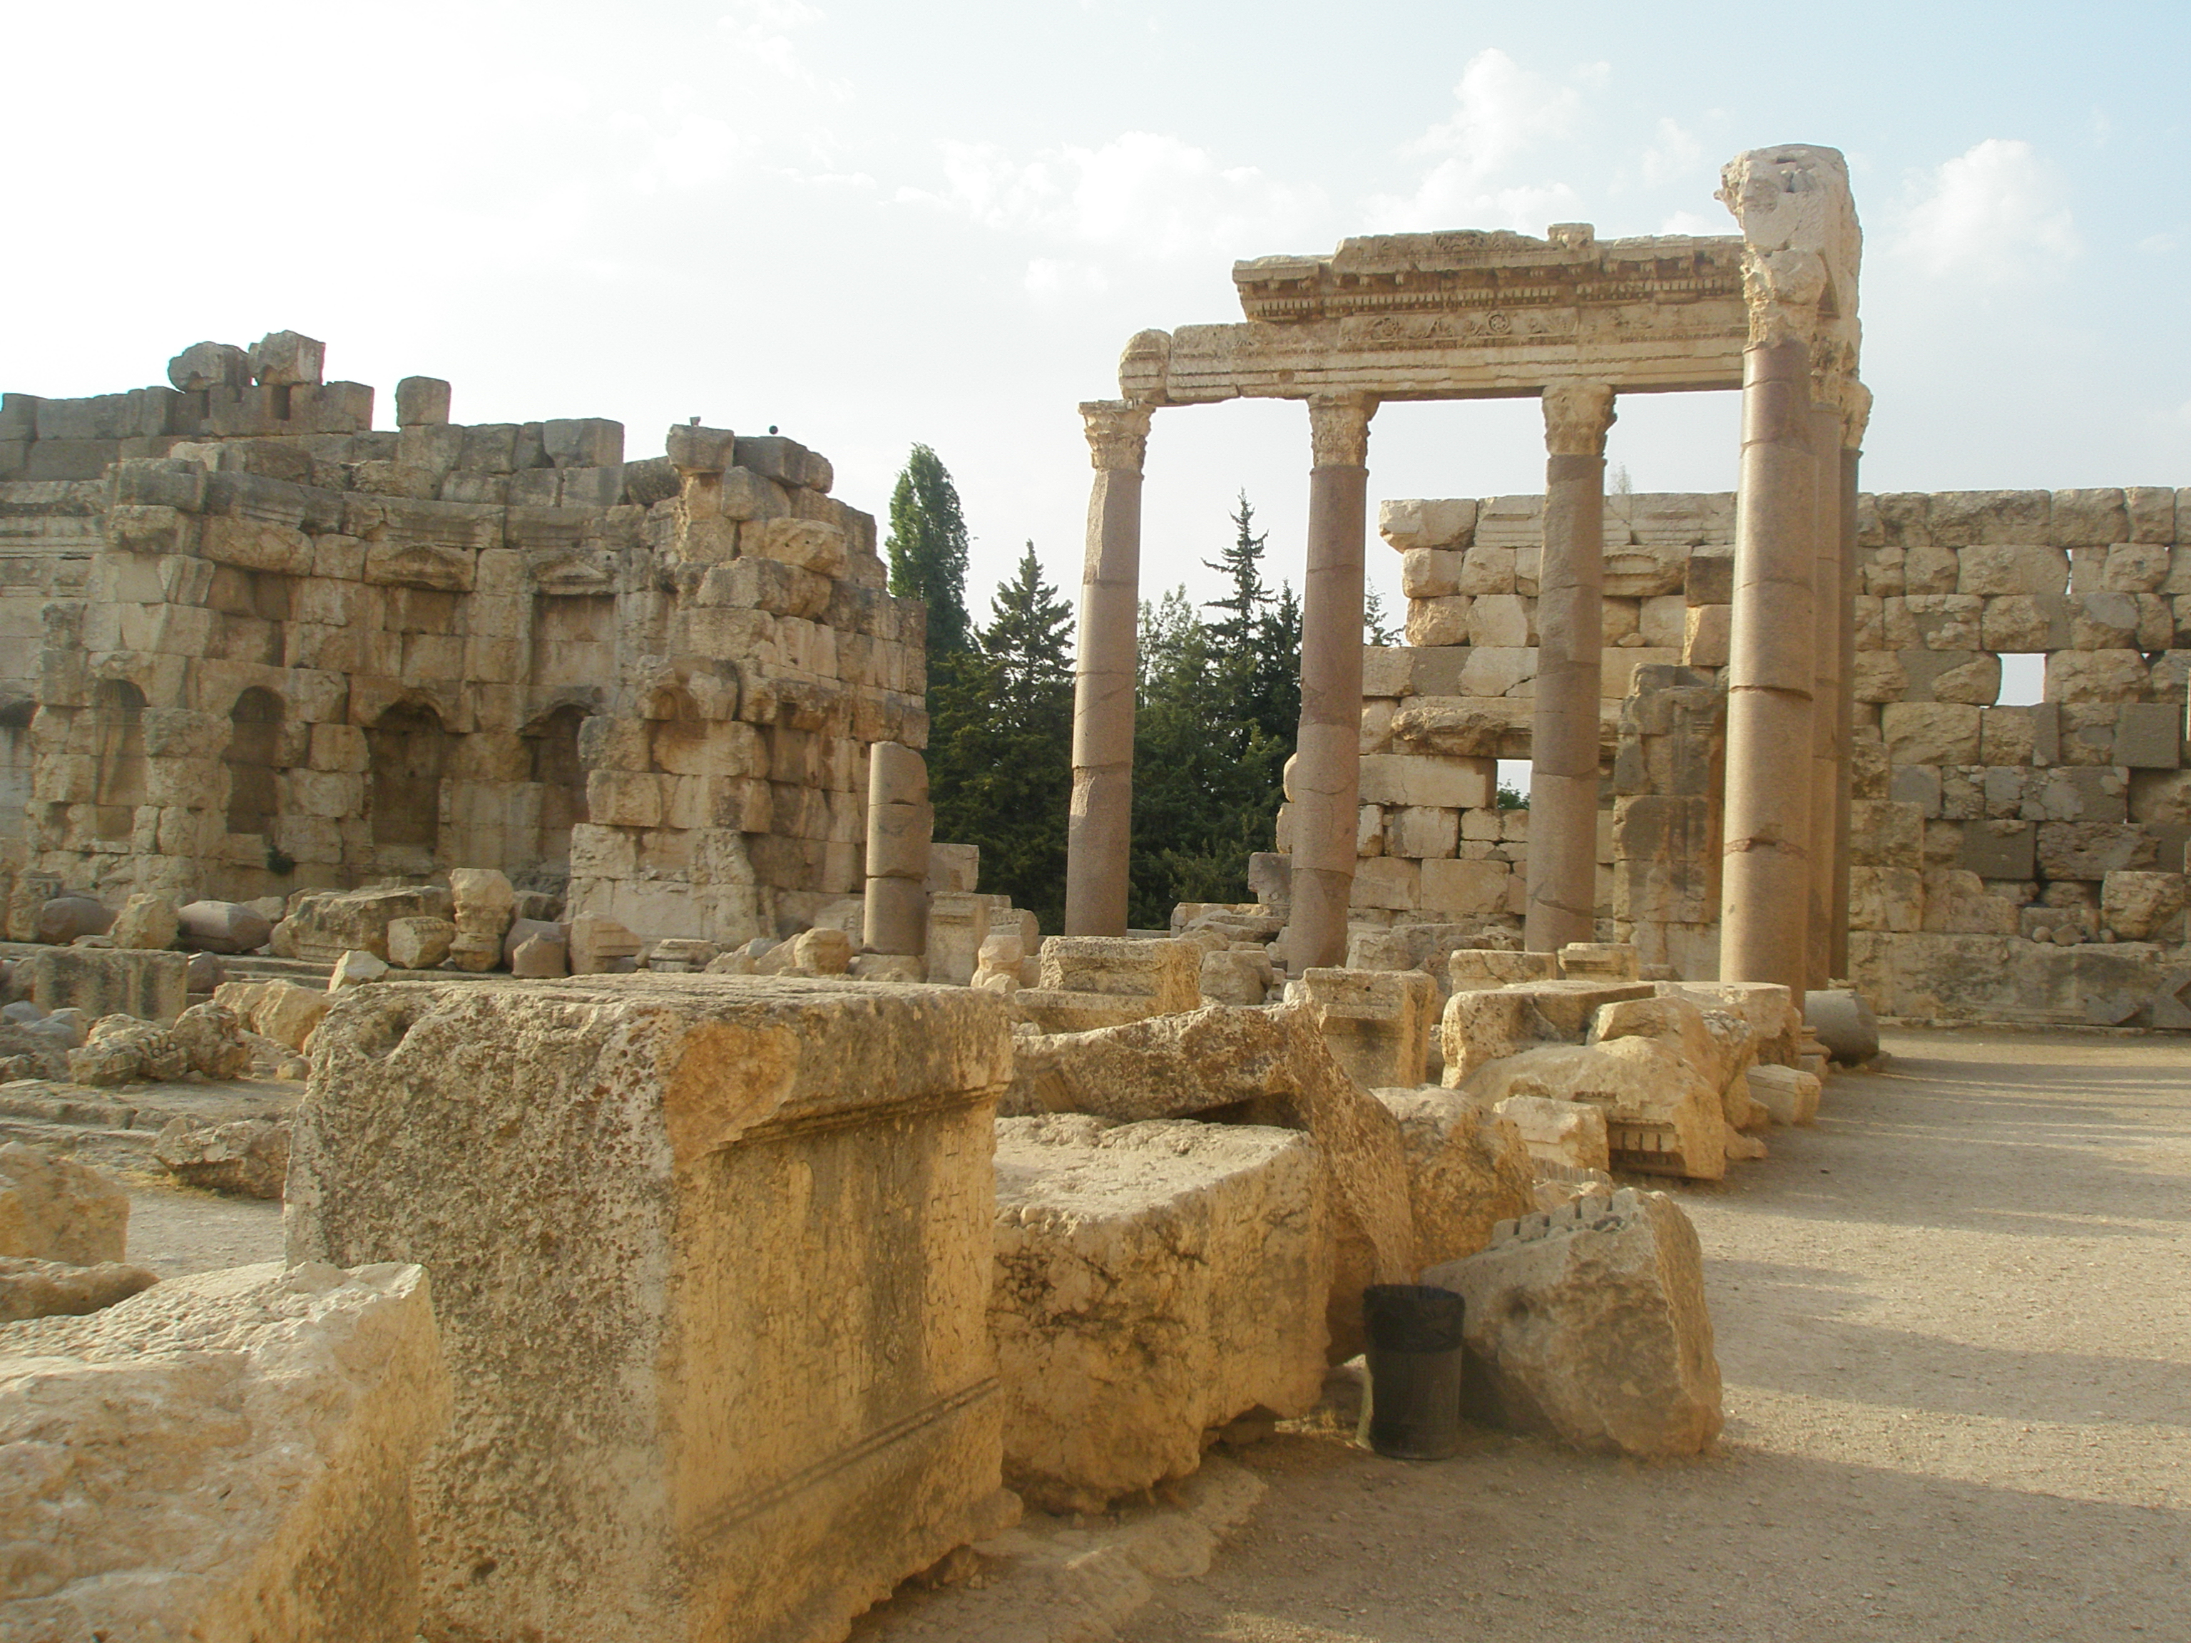
[[[1001,999],[414,984],[322,1034],[289,1257],[443,1275],[427,1634],[841,1636],[999,1527]]]

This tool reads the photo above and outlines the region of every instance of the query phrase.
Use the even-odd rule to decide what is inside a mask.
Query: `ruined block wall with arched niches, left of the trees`
[[[861,889],[918,605],[789,438],[460,425],[320,344],[0,416],[0,868],[250,898],[502,868],[738,942]]]

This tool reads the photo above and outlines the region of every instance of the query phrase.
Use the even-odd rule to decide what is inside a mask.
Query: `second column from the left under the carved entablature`
[[[1347,962],[1347,898],[1361,806],[1363,539],[1369,508],[1367,394],[1308,401],[1308,576],[1301,594],[1301,732],[1293,762],[1293,920],[1299,975]]]

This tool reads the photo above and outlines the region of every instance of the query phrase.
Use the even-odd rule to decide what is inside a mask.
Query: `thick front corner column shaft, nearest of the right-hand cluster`
[[[1727,668],[1720,979],[1803,997],[1810,940],[1812,572],[1810,351],[1781,333],[1742,355],[1742,480]]]

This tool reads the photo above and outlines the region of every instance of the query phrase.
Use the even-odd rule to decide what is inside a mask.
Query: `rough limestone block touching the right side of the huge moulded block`
[[[1238,1415],[1317,1402],[1332,1253],[1308,1137],[999,1119],[995,1216],[1003,1477],[1032,1505],[1100,1512],[1194,1472]]]

